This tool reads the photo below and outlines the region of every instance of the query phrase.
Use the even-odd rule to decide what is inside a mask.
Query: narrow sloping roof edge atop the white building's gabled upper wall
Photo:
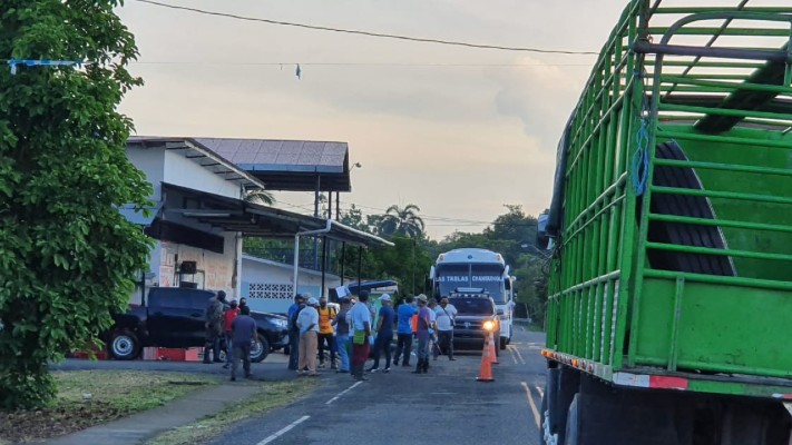
[[[265,188],[264,182],[258,178],[192,138],[131,136],[127,139],[127,147],[164,148],[178,152],[223,179],[236,182],[247,190]]]

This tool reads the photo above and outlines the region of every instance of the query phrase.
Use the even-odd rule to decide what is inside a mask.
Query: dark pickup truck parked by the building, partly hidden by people
[[[113,316],[115,325],[107,335],[110,355],[119,360],[131,360],[146,346],[204,346],[204,310],[214,295],[201,289],[151,288],[146,306],[133,306],[126,314]],[[258,339],[251,348],[253,362],[261,362],[270,352],[289,345],[285,317],[263,313],[251,313],[251,317],[258,327]]]

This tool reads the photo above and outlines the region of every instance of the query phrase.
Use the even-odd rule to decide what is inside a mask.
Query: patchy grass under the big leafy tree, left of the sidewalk
[[[0,443],[30,442],[85,429],[214,385],[215,378],[182,373],[76,370],[52,373],[58,397],[51,407],[0,413]]]

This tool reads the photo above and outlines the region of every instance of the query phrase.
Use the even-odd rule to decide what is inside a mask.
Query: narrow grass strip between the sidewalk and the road
[[[194,445],[218,436],[236,422],[285,406],[311,392],[319,382],[299,378],[289,382],[250,383],[251,396],[228,405],[223,412],[163,433],[146,445]]]

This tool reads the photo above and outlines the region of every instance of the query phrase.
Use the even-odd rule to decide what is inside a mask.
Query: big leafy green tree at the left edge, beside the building
[[[116,108],[141,81],[119,0],[6,0],[0,59],[0,407],[43,405],[50,360],[98,343],[146,268],[149,240],[117,211],[151,188],[126,157]],[[138,278],[139,279],[139,278]]]

